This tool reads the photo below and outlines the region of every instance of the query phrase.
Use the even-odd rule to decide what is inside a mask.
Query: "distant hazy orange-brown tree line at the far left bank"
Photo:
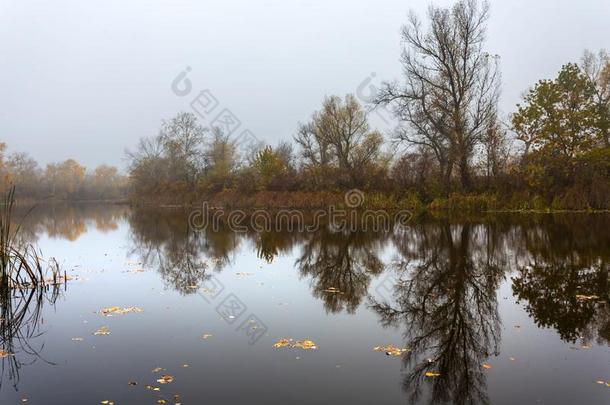
[[[129,182],[116,167],[100,165],[91,171],[74,159],[41,168],[27,153],[7,155],[0,143],[0,191],[17,190],[19,200],[117,200],[128,196]]]

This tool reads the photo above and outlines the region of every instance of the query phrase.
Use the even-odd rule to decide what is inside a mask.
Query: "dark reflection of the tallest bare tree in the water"
[[[498,353],[496,290],[505,267],[482,243],[488,232],[475,232],[470,224],[428,228],[419,226],[416,238],[403,236],[411,257],[394,265],[395,303],[371,297],[372,308],[383,325],[404,327],[409,351],[403,357],[403,388],[411,400],[420,399],[427,381],[431,403],[487,403],[481,365]],[[426,372],[440,376],[427,378]]]

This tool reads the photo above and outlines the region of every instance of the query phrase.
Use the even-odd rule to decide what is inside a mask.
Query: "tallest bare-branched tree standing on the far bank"
[[[500,72],[483,49],[488,16],[488,3],[477,0],[431,6],[426,27],[411,13],[402,30],[405,81],[385,83],[375,100],[406,124],[400,141],[434,152],[446,191],[454,166],[463,189],[472,187],[475,147],[495,125]]]

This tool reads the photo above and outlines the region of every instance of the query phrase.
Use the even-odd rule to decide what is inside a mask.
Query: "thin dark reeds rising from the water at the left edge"
[[[12,221],[15,188],[0,207],[0,290],[37,289],[65,281],[55,259],[45,261],[36,248],[19,239],[20,224]]]

